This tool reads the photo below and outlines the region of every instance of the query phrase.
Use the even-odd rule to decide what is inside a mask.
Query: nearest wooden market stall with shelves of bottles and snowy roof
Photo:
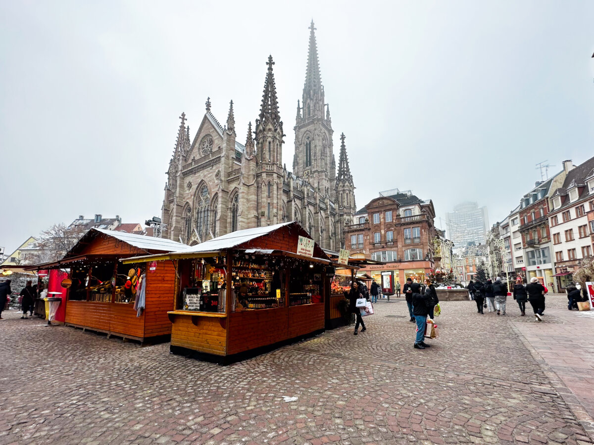
[[[236,231],[168,255],[179,273],[170,352],[232,363],[323,332],[336,263],[296,222]]]

